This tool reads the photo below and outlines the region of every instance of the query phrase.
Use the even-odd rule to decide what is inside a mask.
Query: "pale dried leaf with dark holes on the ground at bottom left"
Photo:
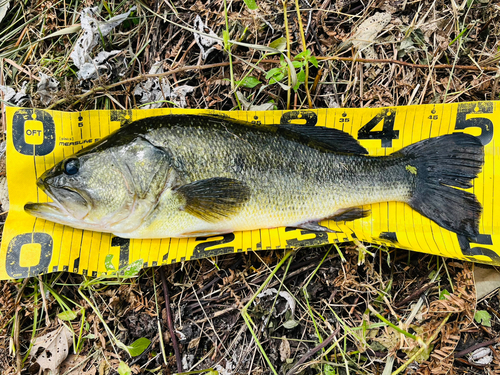
[[[30,355],[34,356],[39,350],[42,353],[36,359],[40,370],[51,371],[52,374],[59,373],[59,365],[69,354],[69,348],[73,344],[73,334],[64,324],[55,331],[38,337],[31,348]]]

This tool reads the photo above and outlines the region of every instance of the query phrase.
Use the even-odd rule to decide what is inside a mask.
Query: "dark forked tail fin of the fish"
[[[484,148],[472,135],[448,134],[405,147],[406,169],[416,175],[410,206],[441,227],[467,237],[479,234],[481,204],[472,187],[481,172]]]

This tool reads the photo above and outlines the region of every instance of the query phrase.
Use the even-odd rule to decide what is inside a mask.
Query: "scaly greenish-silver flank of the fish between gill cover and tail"
[[[332,154],[271,131],[228,128],[219,121],[193,118],[183,126],[155,127],[146,139],[170,150],[173,165],[186,183],[226,177],[250,187],[250,199],[240,213],[217,223],[216,231],[322,220],[342,208],[405,201],[413,187],[414,176],[405,172],[398,159]],[[161,220],[162,209],[158,207],[154,220],[140,230],[153,225],[164,233],[171,218],[154,224]],[[199,226],[197,231],[206,233],[203,222],[191,218],[187,224],[190,217],[179,215],[186,216],[180,220],[183,227]]]

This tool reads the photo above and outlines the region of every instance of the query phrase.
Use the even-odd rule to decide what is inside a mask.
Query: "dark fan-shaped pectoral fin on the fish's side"
[[[250,198],[250,188],[242,181],[214,177],[183,185],[177,189],[185,201],[182,209],[208,222],[237,214]]]

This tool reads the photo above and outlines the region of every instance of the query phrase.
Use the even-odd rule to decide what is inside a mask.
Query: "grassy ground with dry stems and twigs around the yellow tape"
[[[92,58],[121,52],[94,61],[100,66],[90,79],[78,77],[70,53],[92,1],[10,3],[1,21],[0,84],[24,87],[24,102],[4,98],[26,107],[359,108],[499,98],[500,5],[487,0],[95,2],[100,21],[136,8],[98,35]],[[219,39],[200,46],[192,29]],[[276,49],[294,60],[292,89]],[[155,62],[161,70],[152,72]],[[41,73],[55,79],[45,80],[45,90],[37,88]],[[159,97],[135,91],[158,74],[168,87],[150,80],[146,91],[156,87]],[[373,256],[358,265],[364,247]],[[500,297],[477,300],[473,268],[342,244],[220,256],[132,278],[55,273],[2,281],[0,373],[37,372],[30,343],[41,338],[47,346],[45,335],[58,330],[63,347],[62,321],[75,336],[60,373],[500,373]],[[123,344],[134,342],[131,357]],[[472,358],[480,347],[490,352]]]

